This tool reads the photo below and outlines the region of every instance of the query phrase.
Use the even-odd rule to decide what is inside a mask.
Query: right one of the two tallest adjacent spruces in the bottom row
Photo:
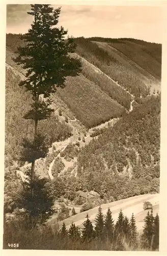
[[[113,234],[114,234],[114,220],[112,218],[112,212],[108,208],[105,221],[104,221],[104,229],[105,229],[105,236],[110,241],[113,240]]]

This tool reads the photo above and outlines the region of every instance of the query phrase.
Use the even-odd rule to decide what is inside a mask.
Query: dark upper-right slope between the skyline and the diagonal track
[[[125,38],[126,39],[126,38]],[[77,53],[94,63],[136,97],[146,96],[149,88],[160,90],[161,45],[138,40],[76,38]]]

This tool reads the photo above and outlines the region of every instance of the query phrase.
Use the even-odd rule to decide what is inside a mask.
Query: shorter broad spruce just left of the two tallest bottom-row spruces
[[[94,229],[88,214],[86,218],[87,220],[83,223],[84,228],[82,229],[82,239],[84,242],[89,242],[94,238]]]

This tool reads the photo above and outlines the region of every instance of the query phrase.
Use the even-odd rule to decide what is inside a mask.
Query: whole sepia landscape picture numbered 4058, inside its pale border
[[[162,9],[6,5],[3,249],[159,251]]]

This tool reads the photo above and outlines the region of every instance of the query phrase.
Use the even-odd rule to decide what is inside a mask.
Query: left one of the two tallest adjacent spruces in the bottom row
[[[95,219],[95,234],[97,238],[104,239],[104,216],[101,207],[99,207]]]

